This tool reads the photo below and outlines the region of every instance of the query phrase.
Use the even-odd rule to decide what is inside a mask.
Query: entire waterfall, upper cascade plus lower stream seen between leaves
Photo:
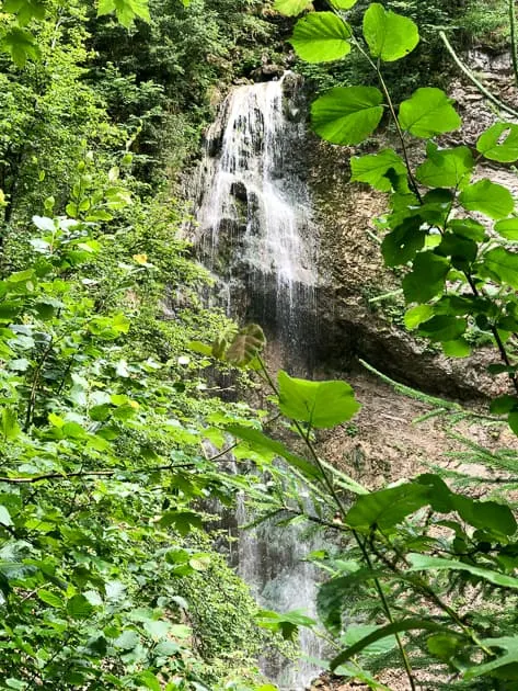
[[[278,81],[235,87],[223,101],[206,135],[194,236],[215,274],[219,305],[264,326],[290,362],[303,353],[308,363],[318,272],[310,196],[297,167],[306,135],[299,87],[286,72]],[[235,520],[249,520],[243,503]],[[300,526],[272,522],[239,530],[233,562],[262,607],[311,616],[318,575],[304,557],[315,546],[300,533]],[[306,659],[322,657],[320,638],[301,630],[300,647],[296,662],[261,660],[283,691],[303,691],[320,671]]]

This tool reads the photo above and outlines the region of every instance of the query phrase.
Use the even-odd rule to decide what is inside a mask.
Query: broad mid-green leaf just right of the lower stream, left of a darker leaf
[[[362,495],[347,511],[345,522],[361,531],[393,528],[428,503],[428,491],[424,485],[405,483]]]

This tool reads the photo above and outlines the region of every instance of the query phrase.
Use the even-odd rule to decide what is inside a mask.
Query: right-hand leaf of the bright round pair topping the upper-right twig
[[[419,43],[417,25],[379,2],[372,2],[364,14],[364,37],[370,55],[384,63],[405,57]]]

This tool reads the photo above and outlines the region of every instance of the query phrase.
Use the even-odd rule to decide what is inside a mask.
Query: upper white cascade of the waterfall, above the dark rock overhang
[[[299,84],[286,72],[232,89],[206,134],[195,202],[196,243],[229,314],[262,322],[288,352],[304,346],[318,284],[316,234],[297,166],[307,136]]]

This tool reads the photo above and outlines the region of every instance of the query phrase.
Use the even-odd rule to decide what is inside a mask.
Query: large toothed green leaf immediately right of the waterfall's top
[[[313,129],[332,144],[359,144],[379,125],[382,102],[375,87],[336,87],[313,102]]]

